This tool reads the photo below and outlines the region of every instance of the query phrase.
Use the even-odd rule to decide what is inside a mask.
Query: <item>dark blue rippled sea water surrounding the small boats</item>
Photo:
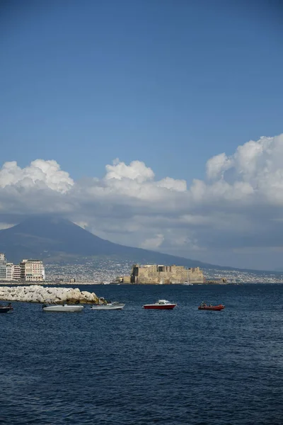
[[[283,285],[79,288],[125,309],[0,314],[1,424],[283,424]]]

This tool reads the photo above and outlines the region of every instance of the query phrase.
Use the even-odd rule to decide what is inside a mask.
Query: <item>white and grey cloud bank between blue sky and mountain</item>
[[[282,207],[283,134],[210,158],[206,178],[189,187],[170,176],[156,180],[138,160],[115,159],[103,179],[81,181],[54,160],[23,169],[6,162],[0,170],[1,227],[56,213],[113,242],[235,266],[281,255]]]

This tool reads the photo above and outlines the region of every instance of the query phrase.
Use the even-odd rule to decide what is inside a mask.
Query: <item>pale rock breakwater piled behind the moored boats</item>
[[[41,285],[0,286],[0,300],[21,302],[57,302],[57,304],[87,304],[98,302],[95,293],[79,288],[45,288]]]

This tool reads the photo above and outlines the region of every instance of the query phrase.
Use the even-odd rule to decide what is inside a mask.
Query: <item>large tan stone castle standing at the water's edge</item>
[[[200,267],[163,266],[134,264],[130,276],[123,276],[122,283],[204,283],[204,275]]]

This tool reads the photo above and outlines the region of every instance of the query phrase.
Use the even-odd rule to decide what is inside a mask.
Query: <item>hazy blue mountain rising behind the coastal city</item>
[[[132,263],[220,268],[201,261],[114,244],[69,220],[45,216],[28,218],[16,226],[0,230],[0,252],[6,254],[7,261],[14,263],[22,259],[77,263],[86,257],[112,256]]]

